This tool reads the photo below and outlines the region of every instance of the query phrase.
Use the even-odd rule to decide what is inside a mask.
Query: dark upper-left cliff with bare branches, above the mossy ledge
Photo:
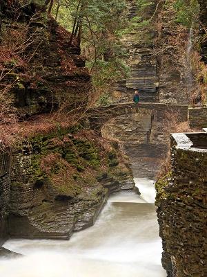
[[[70,45],[70,33],[48,18],[46,1],[24,2],[1,3],[0,89],[29,114],[86,102],[90,75],[79,42]]]

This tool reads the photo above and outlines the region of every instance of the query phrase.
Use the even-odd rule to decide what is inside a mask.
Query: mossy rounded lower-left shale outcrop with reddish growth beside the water
[[[8,233],[68,239],[95,222],[110,193],[133,188],[117,143],[90,130],[34,136],[12,154]]]

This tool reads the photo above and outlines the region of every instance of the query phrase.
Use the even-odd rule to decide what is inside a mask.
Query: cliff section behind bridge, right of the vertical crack
[[[173,5],[174,1],[161,3],[157,14],[155,53],[159,61],[159,102],[188,104],[191,89],[188,80],[190,57],[186,56],[186,52],[190,31],[177,24]],[[193,78],[190,82],[193,83]]]

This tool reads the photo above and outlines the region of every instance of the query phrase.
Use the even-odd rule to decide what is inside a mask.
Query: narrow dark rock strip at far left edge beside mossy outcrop
[[[0,247],[8,238],[8,203],[10,195],[10,157],[0,153]]]

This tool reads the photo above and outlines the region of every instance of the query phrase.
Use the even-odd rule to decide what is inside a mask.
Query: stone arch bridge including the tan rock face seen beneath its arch
[[[92,129],[121,141],[135,176],[150,178],[155,177],[169,150],[169,132],[175,132],[175,124],[188,120],[187,105],[147,102],[97,107],[88,113]]]

